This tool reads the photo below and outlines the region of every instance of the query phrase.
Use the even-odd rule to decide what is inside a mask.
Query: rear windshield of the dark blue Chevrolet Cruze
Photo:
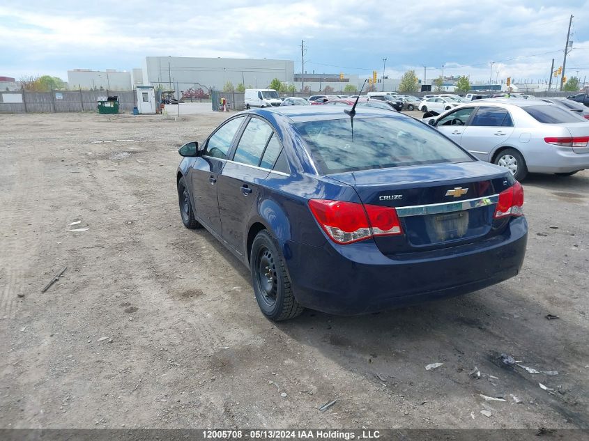
[[[353,123],[353,137],[350,118],[295,124],[320,173],[473,161],[413,118],[354,118]]]

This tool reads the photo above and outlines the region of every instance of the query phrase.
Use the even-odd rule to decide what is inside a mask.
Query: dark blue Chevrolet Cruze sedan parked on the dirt
[[[521,185],[403,114],[257,109],[179,152],[184,225],[250,268],[273,320],[469,293],[523,263]]]

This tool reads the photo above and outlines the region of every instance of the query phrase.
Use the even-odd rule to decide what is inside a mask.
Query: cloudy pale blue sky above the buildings
[[[548,79],[562,64],[589,77],[589,0],[68,1],[0,4],[0,75],[130,70],[145,56],[291,59],[300,71],[420,78]]]

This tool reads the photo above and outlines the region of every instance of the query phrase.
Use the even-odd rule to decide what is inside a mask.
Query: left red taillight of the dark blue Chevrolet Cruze
[[[340,244],[358,242],[375,235],[401,234],[395,208],[328,199],[311,199],[309,208],[323,231]]]

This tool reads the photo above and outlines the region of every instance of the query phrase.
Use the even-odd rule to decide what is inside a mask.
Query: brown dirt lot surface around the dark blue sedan
[[[1,428],[589,426],[589,171],[524,183],[519,277],[271,323],[248,271],[178,212],[176,149],[226,116],[0,116]]]

